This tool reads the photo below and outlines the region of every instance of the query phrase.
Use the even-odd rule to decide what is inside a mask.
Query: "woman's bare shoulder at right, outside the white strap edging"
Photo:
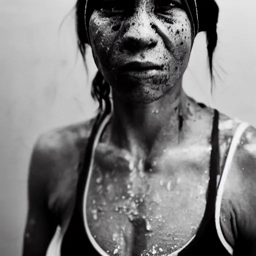
[[[222,205],[234,239],[256,239],[256,129],[251,125],[238,138]]]

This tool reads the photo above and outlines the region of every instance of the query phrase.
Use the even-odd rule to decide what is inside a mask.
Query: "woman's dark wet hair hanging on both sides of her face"
[[[214,0],[183,0],[183,2],[188,6],[188,11],[192,17],[197,17],[197,22],[194,22],[194,34],[197,32],[205,31],[206,32],[206,42],[207,42],[207,52],[208,52],[208,63],[209,71],[211,76],[211,82],[213,79],[212,73],[212,58],[213,52],[217,44],[217,21],[218,21],[218,6]],[[190,7],[191,6],[191,7]],[[86,44],[88,43],[87,31],[84,22],[84,16],[89,20],[88,13],[85,15],[86,0],[77,0],[75,4],[75,16],[76,16],[76,33],[77,33],[77,45],[81,52],[82,58],[85,63],[85,53],[86,53]],[[90,14],[92,13],[92,8],[89,10]],[[193,18],[192,18],[193,20]],[[88,23],[88,22],[87,22]],[[103,104],[105,109],[109,111],[110,101],[110,86],[104,81],[102,74],[97,71],[91,87],[91,96],[94,100],[97,100],[99,103],[99,111],[103,109]]]

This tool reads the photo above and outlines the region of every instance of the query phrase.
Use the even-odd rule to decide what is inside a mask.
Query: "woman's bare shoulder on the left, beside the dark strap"
[[[46,187],[52,190],[65,180],[74,179],[94,119],[40,134],[33,146],[28,181],[47,183]]]

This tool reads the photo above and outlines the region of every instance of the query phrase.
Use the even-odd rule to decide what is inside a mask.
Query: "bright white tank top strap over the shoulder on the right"
[[[224,185],[227,180],[228,172],[230,170],[232,160],[237,148],[237,145],[240,142],[240,138],[243,134],[243,132],[246,130],[246,128],[249,126],[248,123],[246,122],[241,122],[238,124],[234,135],[232,137],[227,157],[225,160],[224,168],[221,173],[219,182],[218,182],[218,187],[217,187],[217,196],[216,196],[216,202],[215,202],[215,227],[217,231],[217,235],[219,237],[219,240],[221,241],[222,245],[226,248],[226,250],[232,255],[233,253],[233,248],[228,244],[228,242],[225,240],[224,235],[221,230],[220,226],[220,208],[221,208],[221,201],[222,201],[222,196],[223,196],[223,191],[224,191]]]

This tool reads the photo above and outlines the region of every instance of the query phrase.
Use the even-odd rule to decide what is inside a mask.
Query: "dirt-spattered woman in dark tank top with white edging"
[[[253,127],[181,87],[213,0],[77,0],[92,48],[98,115],[42,135],[31,158],[23,255],[254,255]],[[112,100],[110,100],[110,88]]]

